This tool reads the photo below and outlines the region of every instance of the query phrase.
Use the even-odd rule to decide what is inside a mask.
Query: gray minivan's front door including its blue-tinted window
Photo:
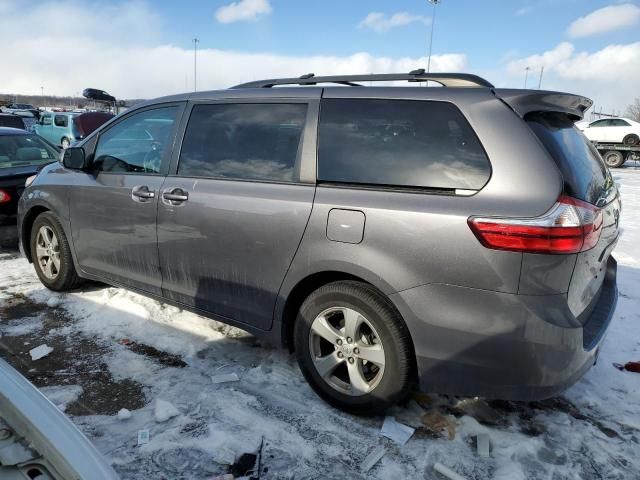
[[[73,243],[82,271],[162,293],[158,196],[182,109],[170,104],[132,112],[100,133],[91,171],[70,189]]]

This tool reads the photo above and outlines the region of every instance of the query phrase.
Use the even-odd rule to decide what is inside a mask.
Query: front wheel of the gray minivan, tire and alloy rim
[[[80,284],[69,242],[55,215],[38,215],[31,227],[30,245],[36,274],[45,287],[64,292]]]

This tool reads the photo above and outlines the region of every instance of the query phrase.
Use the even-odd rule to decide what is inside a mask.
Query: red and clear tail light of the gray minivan
[[[570,254],[595,247],[602,230],[602,210],[561,196],[547,213],[534,218],[470,217],[480,243],[494,250]]]

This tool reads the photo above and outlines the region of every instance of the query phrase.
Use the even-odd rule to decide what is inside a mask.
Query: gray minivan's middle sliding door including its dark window
[[[317,108],[306,100],[193,106],[158,206],[166,297],[270,328],[313,204]]]

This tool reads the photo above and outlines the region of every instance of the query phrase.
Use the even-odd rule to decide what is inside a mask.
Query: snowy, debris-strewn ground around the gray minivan
[[[623,195],[620,300],[598,364],[545,402],[416,396],[391,412],[416,428],[404,446],[379,435],[382,418],[319,400],[287,352],[118,288],[53,294],[8,251],[0,252],[0,355],[126,479],[207,479],[257,452],[261,479],[444,478],[436,462],[476,480],[638,479],[640,374],[612,363],[640,360],[640,169],[614,176]],[[54,350],[31,360],[45,343]],[[234,373],[239,380],[212,380]],[[423,426],[425,413],[435,428]],[[141,430],[149,441],[138,445]],[[489,435],[489,458],[477,454],[480,433]],[[363,474],[379,445],[385,456]]]

